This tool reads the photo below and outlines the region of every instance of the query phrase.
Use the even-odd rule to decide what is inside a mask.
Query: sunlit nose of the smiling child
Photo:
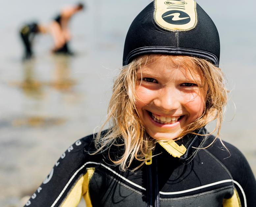
[[[181,106],[179,96],[180,94],[177,94],[175,90],[165,89],[159,93],[154,104],[165,112],[177,110]]]

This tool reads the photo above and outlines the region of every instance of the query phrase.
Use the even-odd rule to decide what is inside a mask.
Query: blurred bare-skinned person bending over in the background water
[[[52,49],[52,52],[73,55],[68,46],[71,39],[68,30],[68,22],[73,14],[81,11],[83,8],[84,5],[79,3],[74,7],[68,7],[62,10],[61,13],[54,18],[54,21],[50,26],[51,35],[54,40],[54,48]]]

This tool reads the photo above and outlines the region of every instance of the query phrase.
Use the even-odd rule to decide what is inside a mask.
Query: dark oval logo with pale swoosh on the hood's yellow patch
[[[190,16],[187,13],[178,10],[167,11],[162,15],[162,18],[167,23],[174,25],[182,25],[190,22]]]

